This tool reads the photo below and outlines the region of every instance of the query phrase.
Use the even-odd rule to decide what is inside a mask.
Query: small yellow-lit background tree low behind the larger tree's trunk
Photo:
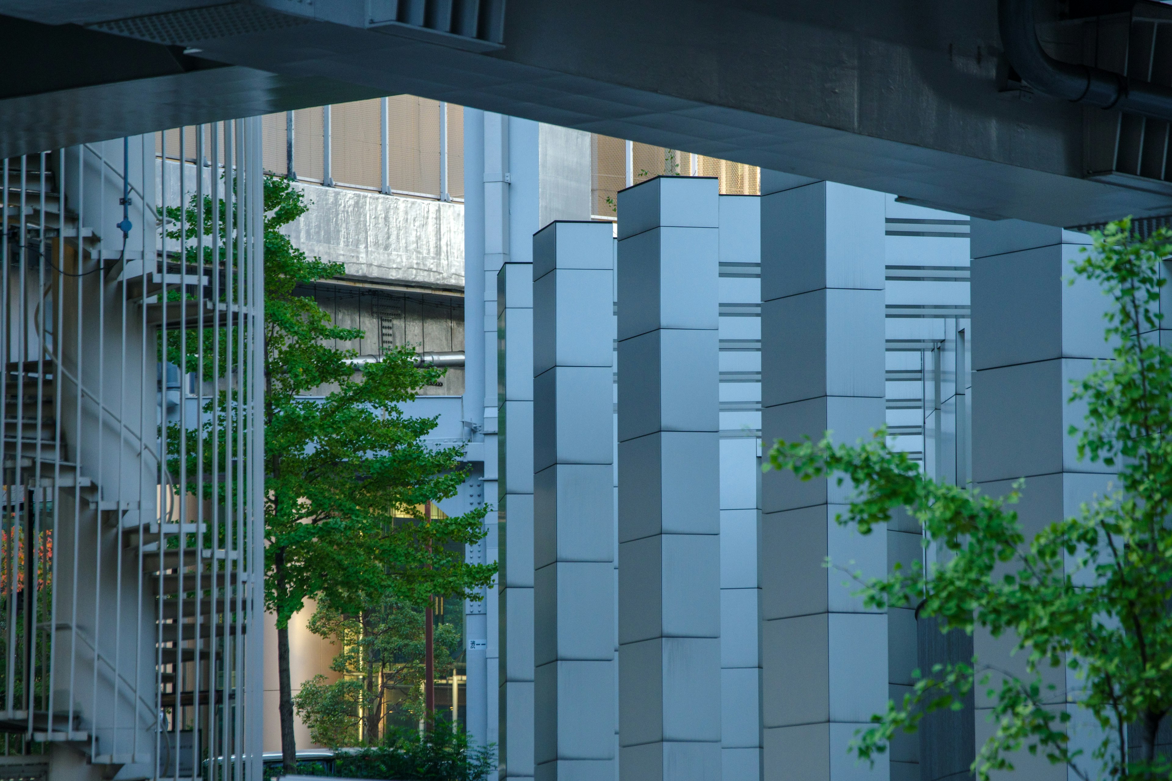
[[[397,717],[417,724],[427,718],[423,609],[393,596],[360,614],[322,604],[309,619],[309,630],[341,645],[331,669],[342,677],[327,683],[325,676],[315,676],[294,698],[315,742],[332,748],[377,744],[390,726],[382,724],[384,712],[388,721]],[[436,625],[436,670],[451,670],[461,642],[456,626]]]

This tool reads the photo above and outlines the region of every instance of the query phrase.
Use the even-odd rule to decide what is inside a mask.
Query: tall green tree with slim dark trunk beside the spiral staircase
[[[483,535],[484,511],[424,519],[422,507],[456,495],[462,447],[431,447],[435,418],[401,404],[440,379],[401,347],[366,364],[332,347],[361,331],[333,326],[298,286],[343,272],[309,259],[280,228],[307,210],[286,179],[265,179],[265,607],[277,614],[281,747],[295,769],[288,621],[307,600],[359,614],[377,595],[424,604],[473,597],[495,566],[466,564],[463,544]],[[326,389],[325,398],[306,398]],[[407,516],[408,520],[403,520]]]

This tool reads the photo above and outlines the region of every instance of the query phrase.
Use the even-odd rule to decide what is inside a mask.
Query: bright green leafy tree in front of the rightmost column
[[[827,437],[779,440],[770,451],[770,466],[802,480],[850,480],[856,494],[839,523],[870,534],[906,508],[925,544],[945,552],[927,571],[897,564],[888,577],[866,581],[868,607],[919,605],[942,631],[980,626],[1026,658],[1023,676],[976,658],[920,671],[912,693],[858,737],[860,758],[883,753],[897,731],[914,732],[929,713],[959,710],[982,687],[995,729],[973,765],[979,779],[1013,769],[1022,748],[1088,781],[1170,777],[1172,765],[1156,747],[1172,708],[1172,350],[1158,338],[1170,241],[1163,228],[1138,240],[1123,220],[1095,234],[1093,249],[1075,265],[1113,301],[1105,327],[1113,347],[1112,359],[1074,383],[1071,400],[1088,411],[1069,433],[1079,458],[1118,471],[1110,492],[1076,518],[1056,518],[1028,539],[1013,512],[1023,484],[993,498],[928,479],[905,453],[887,450],[883,431],[858,445]],[[1071,691],[1043,681],[1045,669],[1062,664],[1079,681]],[[1102,729],[1090,755],[1070,744],[1072,707]],[[1127,731],[1138,732],[1138,751],[1129,751]]]

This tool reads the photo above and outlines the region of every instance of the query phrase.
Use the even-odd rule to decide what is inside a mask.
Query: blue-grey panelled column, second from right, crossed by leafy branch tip
[[[762,177],[762,439],[868,438],[885,415],[884,196],[829,181],[777,181],[770,192],[774,178]],[[766,779],[888,775],[886,754],[868,770],[847,753],[887,705],[887,617],[847,582],[847,573],[886,571],[887,535],[836,522],[849,491],[792,473],[762,480]]]

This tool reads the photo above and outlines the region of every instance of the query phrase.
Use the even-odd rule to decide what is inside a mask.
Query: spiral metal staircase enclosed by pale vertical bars
[[[169,135],[2,163],[0,753],[25,775],[260,779],[260,124]]]

